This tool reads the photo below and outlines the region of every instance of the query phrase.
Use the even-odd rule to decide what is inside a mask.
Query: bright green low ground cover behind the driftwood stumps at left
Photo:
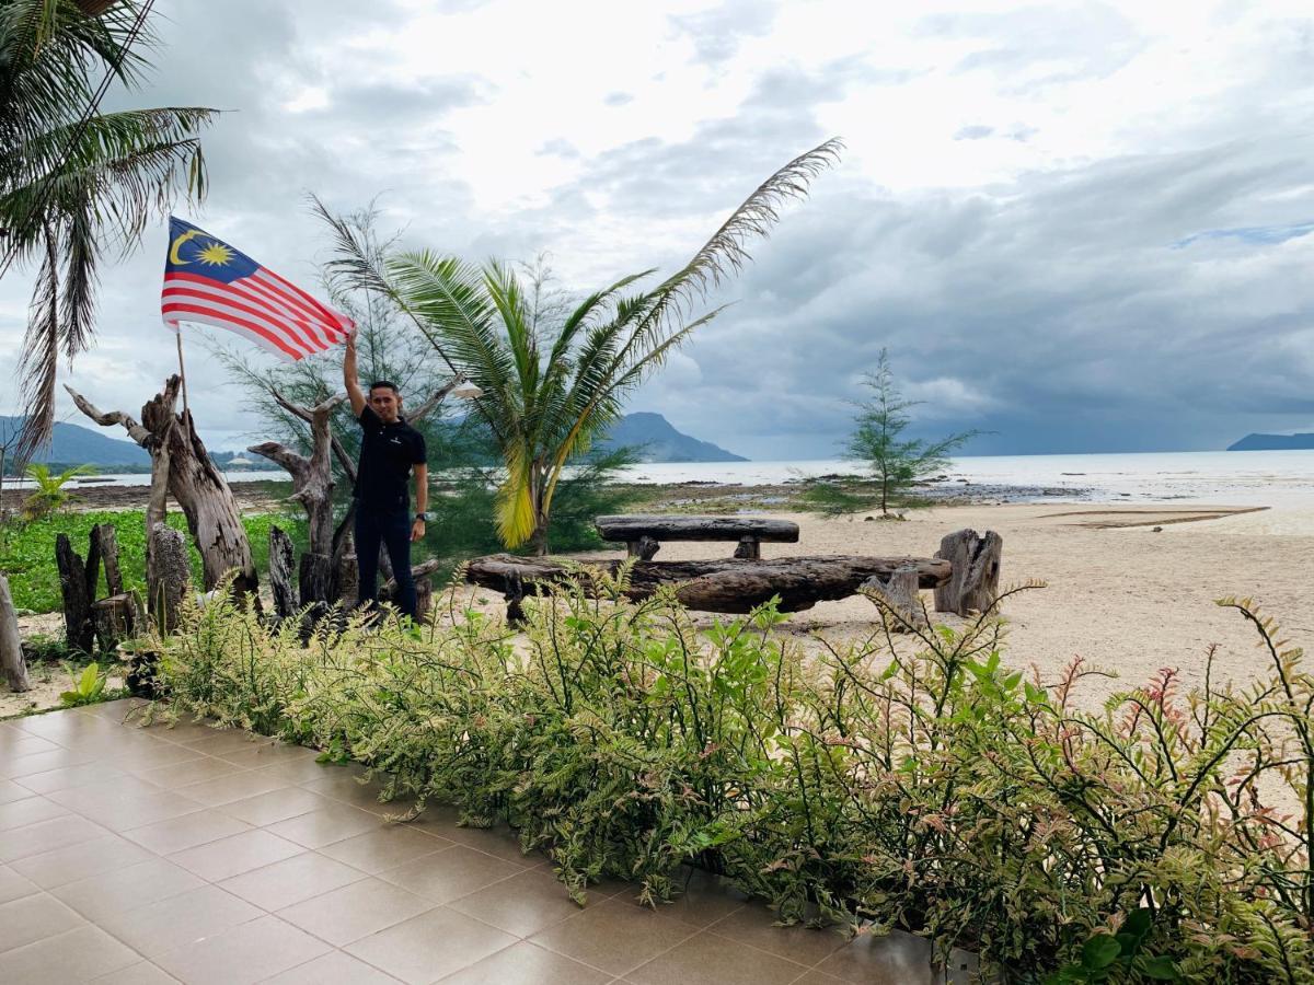
[[[85,556],[91,528],[100,523],[113,524],[118,541],[118,563],[127,591],[146,590],[146,514],[141,510],[68,512],[47,516],[25,524],[13,524],[9,536],[0,544],[0,570],[9,574],[9,588],[14,607],[34,612],[55,612],[63,605],[59,592],[59,571],[55,567],[55,537],[67,533],[74,550]],[[187,519],[170,514],[170,527],[187,532]],[[265,569],[269,554],[269,527],[279,524],[292,536],[293,542],[305,545],[305,520],[300,516],[279,514],[251,514],[242,517],[242,525],[251,538],[251,553],[256,566]],[[201,583],[201,557],[188,541],[194,584]],[[106,594],[104,575],[97,587]]]

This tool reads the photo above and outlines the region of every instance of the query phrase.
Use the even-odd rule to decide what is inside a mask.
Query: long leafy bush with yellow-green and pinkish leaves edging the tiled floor
[[[1314,982],[1314,679],[1248,603],[1271,674],[1100,713],[1001,658],[1001,624],[824,642],[765,607],[698,630],[670,596],[530,600],[524,640],[457,611],[269,629],[230,602],[162,642],[173,709],[304,742],[602,877],[669,897],[694,862],[786,921],[907,927],[1005,981]],[[895,616],[882,611],[888,628]],[[1290,813],[1273,797],[1289,799]],[[1265,802],[1268,805],[1265,805]]]

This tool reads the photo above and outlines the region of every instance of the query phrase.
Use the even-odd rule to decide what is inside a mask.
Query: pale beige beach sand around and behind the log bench
[[[763,544],[762,554],[929,556],[951,531],[997,531],[1004,538],[1001,583],[1047,583],[1008,600],[1004,659],[1035,665],[1047,682],[1074,657],[1114,671],[1117,682],[1091,680],[1081,692],[1080,704],[1093,709],[1160,667],[1177,668],[1188,687],[1201,686],[1210,644],[1218,645],[1215,682],[1265,672],[1268,658],[1254,628],[1214,605],[1226,595],[1255,598],[1293,644],[1314,647],[1314,507],[1227,515],[1234,508],[954,506],[915,511],[905,521],[778,514],[799,524],[799,544]],[[1210,516],[1217,519],[1201,519]],[[658,558],[715,557],[731,548],[671,542]],[[922,595],[929,603],[930,594]],[[796,633],[853,634],[867,632],[871,619],[871,603],[859,596],[820,603],[786,625]],[[945,621],[959,623],[953,616]]]

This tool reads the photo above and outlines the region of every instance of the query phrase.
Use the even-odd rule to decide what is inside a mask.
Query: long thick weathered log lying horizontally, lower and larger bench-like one
[[[573,561],[570,558],[526,558],[491,554],[476,558],[466,567],[466,580],[497,591],[515,594],[541,584],[547,590],[574,573],[593,588],[587,569],[614,575],[620,561]],[[629,574],[625,595],[632,600],[650,598],[661,586],[675,586],[682,605],[703,612],[749,612],[771,596],[781,598],[782,612],[799,612],[819,602],[844,599],[872,575],[888,577],[911,565],[924,588],[934,588],[950,575],[947,561],[912,557],[791,557],[766,561],[641,561]],[[532,588],[531,588],[532,591]]]

